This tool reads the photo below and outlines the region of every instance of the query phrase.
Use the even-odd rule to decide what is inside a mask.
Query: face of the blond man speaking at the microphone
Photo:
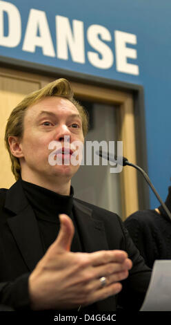
[[[52,150],[48,147],[52,141],[60,142],[62,148],[70,147],[70,153],[66,154],[66,158],[69,156],[70,161],[72,151],[76,150],[76,147],[72,145],[73,142],[83,143],[82,121],[74,104],[62,97],[46,97],[28,107],[23,129],[23,138],[20,142],[23,155],[20,158],[21,175],[25,169],[26,174],[31,171],[32,175],[42,176],[49,180],[54,180],[55,177],[68,180],[72,178],[79,169],[79,165],[71,163],[65,165],[64,154],[61,154],[61,165],[50,165],[48,157]],[[64,144],[64,136],[70,139],[67,146]]]

